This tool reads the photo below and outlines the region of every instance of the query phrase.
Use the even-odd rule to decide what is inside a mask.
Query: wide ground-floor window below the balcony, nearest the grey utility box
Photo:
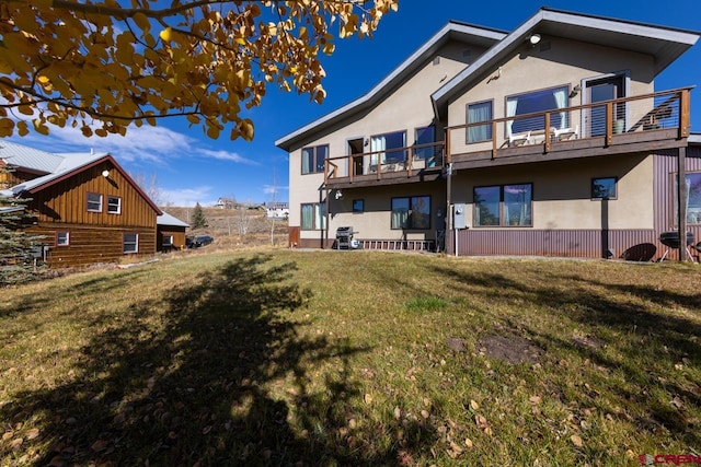
[[[474,188],[474,226],[531,226],[532,184]]]

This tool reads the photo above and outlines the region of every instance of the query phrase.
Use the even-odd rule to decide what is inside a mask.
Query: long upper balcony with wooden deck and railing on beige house
[[[416,183],[439,178],[446,164],[459,170],[678,148],[689,136],[690,92],[685,87],[448,127],[444,141],[329,157],[324,180],[335,188]]]

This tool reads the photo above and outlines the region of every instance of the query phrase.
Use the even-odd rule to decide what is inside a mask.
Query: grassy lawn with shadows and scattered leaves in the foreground
[[[81,272],[0,290],[0,463],[696,456],[700,339],[691,265],[253,250]]]

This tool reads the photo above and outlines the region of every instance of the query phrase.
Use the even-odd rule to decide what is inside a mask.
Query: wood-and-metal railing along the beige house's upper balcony
[[[691,89],[448,127],[445,141],[330,157],[325,161],[324,179],[411,177],[422,171],[440,170],[457,155],[464,160],[471,153],[485,151],[491,151],[492,159],[499,153],[514,155],[529,150],[549,153],[572,147],[562,143],[585,139],[599,139],[601,147],[609,147],[616,143],[617,136],[634,137],[660,129],[673,129],[674,138],[681,139],[689,136]]]

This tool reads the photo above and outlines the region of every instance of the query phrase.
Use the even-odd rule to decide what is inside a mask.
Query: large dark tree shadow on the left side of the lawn
[[[311,292],[289,281],[294,264],[268,261],[231,261],[159,303],[139,303],[92,337],[67,383],[0,406],[0,419],[39,429],[21,446],[24,463],[394,464],[391,433],[402,427],[384,425],[391,440],[380,445],[368,441],[377,427],[350,422],[369,418],[348,369],[365,349],[301,335],[291,315]],[[336,372],[319,382],[324,362]],[[37,442],[50,447],[37,452]]]

